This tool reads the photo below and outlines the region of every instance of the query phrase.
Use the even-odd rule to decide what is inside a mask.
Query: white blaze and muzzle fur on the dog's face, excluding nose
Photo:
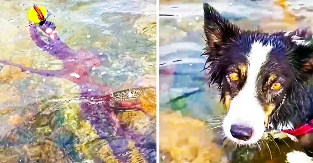
[[[263,106],[257,99],[256,82],[258,74],[267,55],[271,51],[271,45],[263,45],[261,42],[254,42],[251,45],[246,83],[232,101],[223,122],[223,130],[225,135],[233,142],[238,144],[254,144],[264,134],[265,112]],[[247,140],[238,140],[230,133],[231,125],[243,125],[252,127],[253,135]]]

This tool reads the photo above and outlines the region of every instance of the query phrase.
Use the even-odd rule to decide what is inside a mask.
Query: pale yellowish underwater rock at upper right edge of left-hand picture
[[[156,15],[146,15],[138,18],[133,27],[139,33],[148,37],[149,41],[156,41]]]

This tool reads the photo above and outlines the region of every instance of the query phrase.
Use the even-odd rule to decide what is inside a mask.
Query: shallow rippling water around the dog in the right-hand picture
[[[309,1],[206,2],[243,29],[274,32],[312,27],[313,3]],[[214,86],[208,88],[206,71],[202,71],[205,63],[205,57],[200,56],[205,47],[202,5],[202,1],[161,1],[160,4],[160,160],[284,162],[286,152],[299,148],[289,139],[284,139],[288,145],[275,140],[280,149],[271,140],[267,141],[269,146],[263,143],[262,150],[236,149],[221,140],[222,136],[217,134],[220,130],[208,132],[206,130],[212,126],[201,123],[223,114],[218,103],[219,93]],[[178,125],[183,127],[176,127]],[[182,138],[169,147],[166,144],[174,141],[171,136]]]

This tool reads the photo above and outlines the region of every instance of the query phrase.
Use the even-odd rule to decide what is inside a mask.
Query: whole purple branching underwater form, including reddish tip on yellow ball
[[[118,118],[117,110],[136,111],[143,109],[139,95],[153,88],[137,88],[111,92],[109,86],[98,82],[90,75],[92,67],[103,64],[105,55],[84,49],[74,50],[61,41],[56,25],[46,20],[42,8],[34,5],[39,23],[30,23],[29,32],[33,42],[62,61],[60,70],[40,70],[1,60],[4,65],[18,67],[22,72],[43,77],[67,79],[80,87],[80,112],[94,127],[100,139],[107,142],[115,161],[108,162],[156,162],[156,138],[151,133],[139,132]],[[46,11],[45,11],[46,12]],[[134,149],[136,154],[133,154]],[[134,157],[134,155],[136,155]],[[141,159],[139,159],[141,158]],[[138,161],[139,160],[139,161]]]

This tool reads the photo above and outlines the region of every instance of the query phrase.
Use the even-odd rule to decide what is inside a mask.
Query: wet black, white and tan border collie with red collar
[[[252,146],[268,131],[283,131],[297,138],[310,134],[313,131],[310,30],[275,33],[243,30],[207,3],[203,9],[205,69],[209,84],[218,86],[221,102],[227,109],[222,123],[225,137],[237,145]],[[310,143],[303,146],[307,154],[313,149]]]

